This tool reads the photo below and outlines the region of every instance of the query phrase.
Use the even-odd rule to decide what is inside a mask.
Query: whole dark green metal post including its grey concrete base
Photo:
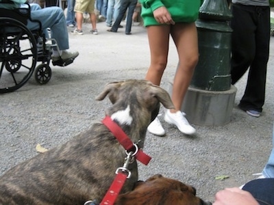
[[[221,126],[232,119],[237,89],[230,76],[230,18],[227,0],[203,1],[196,22],[199,61],[181,107],[192,124]]]

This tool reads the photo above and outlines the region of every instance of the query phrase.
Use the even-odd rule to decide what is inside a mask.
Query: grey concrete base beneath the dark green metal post
[[[173,83],[169,83],[169,94]],[[226,91],[208,91],[189,87],[181,110],[190,124],[221,126],[231,121],[237,89],[234,85]]]

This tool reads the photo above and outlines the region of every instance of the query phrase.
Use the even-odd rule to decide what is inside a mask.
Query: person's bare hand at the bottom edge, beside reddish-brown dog
[[[251,193],[238,187],[218,191],[213,205],[259,205]]]

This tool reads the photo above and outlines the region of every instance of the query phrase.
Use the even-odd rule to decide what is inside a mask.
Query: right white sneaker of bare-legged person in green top
[[[177,126],[179,131],[186,135],[193,135],[196,133],[195,128],[193,128],[188,120],[185,118],[186,113],[182,113],[181,111],[177,111],[176,113],[171,113],[168,109],[164,115],[164,120],[169,124],[174,124]]]

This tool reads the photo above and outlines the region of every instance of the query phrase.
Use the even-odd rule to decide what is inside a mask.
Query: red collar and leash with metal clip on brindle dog
[[[118,124],[116,124],[110,118],[110,116],[105,116],[102,122],[112,132],[116,139],[121,143],[123,148],[125,148],[125,150],[127,151],[127,159],[123,167],[119,167],[116,170],[116,177],[114,178],[114,181],[108,189],[108,192],[105,194],[105,197],[103,197],[103,200],[100,203],[100,205],[112,205],[116,201],[116,198],[118,197],[123,187],[123,184],[125,184],[127,178],[130,178],[131,173],[127,169],[127,165],[129,164],[129,161],[132,159],[132,157],[135,156],[135,158],[138,159],[138,161],[145,165],[149,163],[151,157],[142,152],[142,150],[138,149],[138,146],[132,143],[132,140],[129,139],[129,137],[124,133],[121,127]],[[135,152],[132,151],[134,148],[136,149]]]

